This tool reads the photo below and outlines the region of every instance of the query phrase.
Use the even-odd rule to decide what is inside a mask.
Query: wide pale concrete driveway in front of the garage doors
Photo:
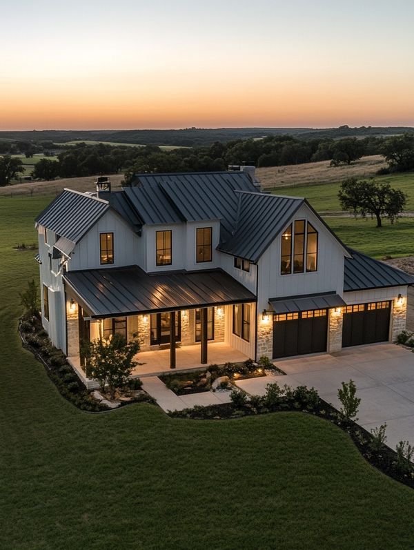
[[[262,395],[266,384],[313,386],[319,395],[340,408],[337,390],[350,378],[361,397],[358,423],[368,431],[387,424],[386,443],[395,449],[400,440],[414,444],[414,353],[395,344],[357,346],[333,355],[312,355],[277,361],[286,376],[240,380],[237,386]]]

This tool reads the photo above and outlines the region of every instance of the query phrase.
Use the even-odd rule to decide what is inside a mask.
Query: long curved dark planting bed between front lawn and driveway
[[[192,409],[170,411],[169,415],[172,418],[193,420],[225,420],[280,411],[297,411],[315,415],[346,431],[359,453],[375,468],[414,489],[414,464],[411,462],[413,453],[410,454],[408,451],[407,454],[404,446],[393,451],[385,444],[386,438],[378,436],[377,430],[368,432],[353,420],[345,418],[335,407],[322,400],[314,388],[298,386],[292,390],[286,385],[281,388],[278,384],[268,384],[264,396],[248,396],[242,391],[235,390],[231,397],[232,403],[195,406]]]

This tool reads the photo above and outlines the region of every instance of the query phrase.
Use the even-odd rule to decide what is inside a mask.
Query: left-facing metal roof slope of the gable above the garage
[[[217,248],[255,263],[304,204],[304,199],[264,193],[236,195],[240,198],[240,209],[235,232]]]

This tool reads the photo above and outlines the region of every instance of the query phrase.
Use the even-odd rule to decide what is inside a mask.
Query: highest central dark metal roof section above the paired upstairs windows
[[[237,217],[235,190],[256,190],[243,172],[139,174],[135,181],[134,186],[124,191],[144,223],[219,219],[221,239],[230,236]]]

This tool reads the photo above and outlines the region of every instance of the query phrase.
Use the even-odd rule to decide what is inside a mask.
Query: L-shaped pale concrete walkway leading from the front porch
[[[175,395],[157,376],[142,379],[142,389],[153,397],[163,411],[182,411],[196,405],[208,406],[230,403],[229,391],[202,391],[190,395]]]

